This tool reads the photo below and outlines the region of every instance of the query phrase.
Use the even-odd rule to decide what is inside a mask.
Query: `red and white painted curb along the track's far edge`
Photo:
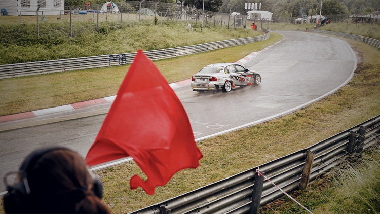
[[[268,50],[272,46],[275,46],[276,44],[280,43],[282,40],[262,49],[261,51],[250,53],[248,56],[244,57],[243,59],[240,59],[239,61],[237,61],[235,63],[244,64],[247,61],[254,58],[255,56],[257,56],[258,54],[262,53],[263,51]],[[182,81],[179,81],[176,83],[170,83],[169,86],[172,89],[176,89],[176,88],[188,86],[190,84],[191,84],[191,79],[187,79],[187,80],[182,80]],[[112,103],[115,100],[115,98],[116,98],[116,95],[104,97],[104,98],[99,98],[99,99],[94,99],[94,100],[89,100],[89,101],[84,101],[84,102],[77,102],[77,103],[68,104],[68,105],[57,106],[57,107],[53,107],[53,108],[49,108],[49,109],[42,109],[42,110],[36,110],[36,111],[31,111],[31,112],[23,112],[23,113],[18,113],[18,114],[13,114],[13,115],[0,116],[0,123],[5,123],[5,122],[10,122],[10,121],[15,121],[15,120],[28,119],[28,118],[35,118],[35,117],[44,116],[44,115],[50,115],[50,114],[61,113],[61,112],[66,112],[66,111],[83,109],[83,108],[87,108],[87,107],[91,107],[91,106],[95,106],[95,105]]]

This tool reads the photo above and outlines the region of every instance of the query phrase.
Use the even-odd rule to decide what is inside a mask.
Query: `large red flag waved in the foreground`
[[[89,166],[131,156],[147,176],[131,189],[154,194],[178,171],[197,168],[203,157],[187,114],[153,62],[138,50],[86,156]]]

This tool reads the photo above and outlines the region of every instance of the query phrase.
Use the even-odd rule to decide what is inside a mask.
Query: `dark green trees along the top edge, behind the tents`
[[[65,5],[84,5],[90,1],[91,4],[102,4],[108,0],[65,0]],[[113,2],[121,2],[115,0]],[[176,3],[180,0],[149,0],[166,3]],[[257,1],[257,0],[256,0]],[[359,14],[373,12],[373,8],[380,7],[380,0],[260,0],[261,10],[273,13],[272,17],[300,17],[303,14],[310,16],[319,14],[322,1],[322,15],[329,14]],[[128,1],[127,1],[128,2]],[[254,3],[249,0],[204,0],[205,10],[213,12],[239,12],[246,14],[245,3]],[[184,6],[201,9],[203,0],[183,0]]]

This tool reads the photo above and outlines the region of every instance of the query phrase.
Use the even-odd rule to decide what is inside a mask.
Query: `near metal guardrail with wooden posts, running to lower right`
[[[342,162],[344,156],[359,153],[375,144],[380,134],[380,115],[346,131],[259,166],[260,172],[286,192],[297,189],[309,151],[314,153],[310,180]],[[378,141],[378,140],[377,140]],[[256,169],[252,168],[197,190],[168,199],[131,214],[154,213],[249,213]],[[270,203],[283,193],[270,182],[262,184],[260,205]]]

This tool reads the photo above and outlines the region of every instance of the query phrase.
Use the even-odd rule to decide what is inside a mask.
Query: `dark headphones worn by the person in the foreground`
[[[21,173],[20,181],[15,185],[7,185],[8,193],[4,195],[4,210],[6,213],[28,213],[30,212],[30,187],[27,180],[27,174],[35,166],[37,161],[45,154],[55,150],[68,150],[71,149],[64,147],[52,147],[39,149],[28,155],[22,162],[19,172]],[[100,199],[103,196],[103,187],[100,177],[94,174],[91,170],[88,170],[93,179],[93,192],[94,195]],[[7,175],[6,175],[7,176]],[[6,183],[6,177],[4,177],[4,183]],[[81,190],[81,188],[79,188]]]

